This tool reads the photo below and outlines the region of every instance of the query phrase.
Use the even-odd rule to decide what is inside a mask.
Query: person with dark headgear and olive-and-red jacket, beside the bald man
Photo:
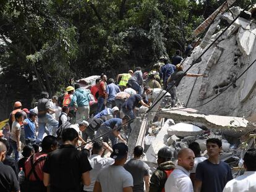
[[[158,167],[150,178],[149,192],[163,191],[167,178],[175,169],[175,165],[171,161],[173,158],[173,151],[170,148],[161,148],[158,151],[157,156]]]

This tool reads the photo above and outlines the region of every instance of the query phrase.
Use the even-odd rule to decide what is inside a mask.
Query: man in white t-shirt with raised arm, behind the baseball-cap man
[[[100,170],[114,163],[114,159],[110,157],[101,157],[105,149],[113,152],[108,143],[101,141],[96,141],[93,143],[92,156],[88,158],[90,165],[92,166],[92,170],[90,170],[91,184],[89,186],[84,185],[83,191],[92,192],[96,177],[98,176]]]

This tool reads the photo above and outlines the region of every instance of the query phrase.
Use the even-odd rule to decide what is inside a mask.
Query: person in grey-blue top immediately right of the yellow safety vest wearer
[[[129,85],[132,89],[137,91],[138,94],[142,95],[143,92],[143,77],[141,67],[136,67],[132,77],[128,80]]]

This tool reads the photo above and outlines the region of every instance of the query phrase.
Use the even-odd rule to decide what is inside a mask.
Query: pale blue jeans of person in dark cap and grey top
[[[56,136],[56,130],[58,129],[59,122],[54,119],[53,115],[45,114],[38,117],[38,135],[36,143],[40,143],[43,140],[43,135],[47,131],[46,123],[53,127],[53,136]]]

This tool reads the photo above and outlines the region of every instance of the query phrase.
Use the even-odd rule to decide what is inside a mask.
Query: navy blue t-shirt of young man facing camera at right
[[[212,164],[207,159],[197,165],[195,178],[202,182],[202,192],[222,192],[226,183],[233,179],[233,175],[226,162]]]

